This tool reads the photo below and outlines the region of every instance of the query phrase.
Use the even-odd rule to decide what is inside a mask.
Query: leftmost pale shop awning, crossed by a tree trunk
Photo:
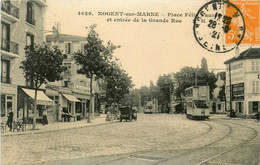
[[[35,90],[33,89],[26,89],[22,88],[22,90],[30,96],[32,99],[34,99],[35,96]],[[37,104],[40,105],[53,105],[53,100],[51,100],[43,91],[38,90],[37,91]]]

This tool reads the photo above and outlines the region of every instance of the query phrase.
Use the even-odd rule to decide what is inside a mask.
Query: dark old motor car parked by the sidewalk
[[[133,119],[136,121],[137,120],[137,111],[132,109],[131,106],[122,106],[119,108],[120,111],[120,122],[122,122],[123,119],[125,121],[129,120],[132,121]]]

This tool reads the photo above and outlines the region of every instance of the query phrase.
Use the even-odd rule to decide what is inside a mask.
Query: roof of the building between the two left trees
[[[46,36],[46,41],[86,41],[87,37],[70,34],[51,34]]]

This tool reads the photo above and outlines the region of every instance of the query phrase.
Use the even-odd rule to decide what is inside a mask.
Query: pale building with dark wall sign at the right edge
[[[251,116],[260,112],[260,48],[249,48],[237,53],[224,64],[227,66],[227,109],[230,109],[231,98],[232,109],[238,115]]]

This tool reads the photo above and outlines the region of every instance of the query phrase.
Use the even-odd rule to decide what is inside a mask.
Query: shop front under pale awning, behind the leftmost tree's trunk
[[[34,115],[34,96],[35,89],[19,87],[18,88],[18,119],[26,123],[32,123]],[[47,111],[48,120],[51,122],[54,118],[54,102],[43,90],[37,90],[37,111],[36,121],[42,122],[43,111]]]

